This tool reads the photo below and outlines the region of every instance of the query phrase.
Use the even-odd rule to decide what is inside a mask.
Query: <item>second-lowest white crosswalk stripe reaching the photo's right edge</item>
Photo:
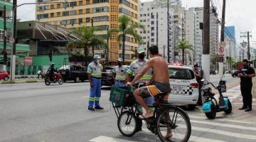
[[[191,122],[198,123],[198,124],[214,125],[214,126],[224,126],[224,127],[234,128],[234,129],[245,129],[245,130],[256,131],[256,127],[250,127],[250,126],[239,126],[239,125],[232,125],[232,124],[222,124],[222,123],[215,123],[215,122],[211,122],[211,121],[191,120]]]

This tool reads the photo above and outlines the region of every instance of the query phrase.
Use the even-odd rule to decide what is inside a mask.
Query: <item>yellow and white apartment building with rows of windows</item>
[[[51,0],[37,0],[51,1]],[[56,2],[62,0],[56,0]],[[81,26],[97,26],[102,31],[95,32],[107,40],[107,28],[118,28],[118,17],[122,14],[138,21],[138,0],[66,0],[60,4],[37,4],[36,20],[63,26],[78,28]],[[92,23],[93,22],[93,23]],[[137,40],[127,36],[124,58],[128,62],[134,58],[134,51],[138,47]],[[112,34],[109,43],[110,62],[116,62],[122,56],[121,45],[117,42],[117,34]],[[95,50],[95,54],[105,57],[105,48]]]

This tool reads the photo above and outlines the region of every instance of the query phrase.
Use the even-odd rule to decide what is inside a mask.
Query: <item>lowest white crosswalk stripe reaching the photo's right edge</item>
[[[184,126],[184,125],[179,125],[179,127],[186,128],[186,126]],[[229,132],[229,131],[222,131],[222,130],[216,130],[216,129],[205,129],[205,128],[196,127],[196,126],[192,126],[192,130],[205,131],[208,133],[216,133],[216,134],[220,134],[220,135],[224,135],[224,136],[232,136],[235,138],[245,138],[245,139],[250,139],[250,140],[256,140],[256,136],[242,134],[242,133],[233,133],[233,132]]]

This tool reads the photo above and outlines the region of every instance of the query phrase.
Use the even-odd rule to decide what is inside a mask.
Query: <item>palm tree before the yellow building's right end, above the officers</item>
[[[132,23],[132,19],[128,16],[122,15],[118,18],[119,28],[110,28],[108,31],[109,37],[112,33],[118,33],[117,40],[122,41],[122,59],[124,61],[124,47],[125,40],[127,35],[132,35],[139,42],[142,40],[142,37],[136,33],[136,28],[142,28],[144,30],[144,26],[139,23]]]

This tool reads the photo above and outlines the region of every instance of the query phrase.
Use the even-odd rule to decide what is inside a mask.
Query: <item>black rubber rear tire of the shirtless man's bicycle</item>
[[[176,114],[176,119],[177,119],[177,115],[179,114],[181,116],[181,118],[183,118],[183,120],[181,122],[185,122],[185,125],[186,125],[186,133],[176,133],[176,128],[181,128],[183,129],[182,127],[184,127],[184,125],[182,124],[176,124],[176,119],[174,117],[173,120],[175,119],[175,123],[174,124],[171,124],[168,122],[168,120],[163,120],[163,119],[166,119],[166,113],[168,113],[168,116],[170,115],[170,112],[174,112],[174,116],[175,116],[175,113]],[[171,119],[170,119],[171,120]],[[166,121],[166,122],[165,122]],[[172,122],[172,121],[171,121]],[[188,117],[188,114],[186,114],[185,111],[183,111],[183,109],[179,108],[179,107],[169,107],[169,109],[165,109],[163,111],[161,111],[157,116],[156,116],[156,133],[157,133],[157,136],[159,136],[159,139],[162,141],[162,142],[167,142],[167,141],[170,141],[170,139],[166,139],[165,136],[163,136],[163,134],[161,133],[161,124],[168,124],[168,126],[166,126],[167,128],[169,127],[169,125],[171,125],[171,132],[173,134],[173,136],[171,137],[171,141],[174,141],[176,139],[176,136],[181,136],[181,135],[184,135],[184,137],[181,139],[181,141],[178,141],[178,142],[187,142],[191,136],[191,122],[190,122],[190,119]]]

